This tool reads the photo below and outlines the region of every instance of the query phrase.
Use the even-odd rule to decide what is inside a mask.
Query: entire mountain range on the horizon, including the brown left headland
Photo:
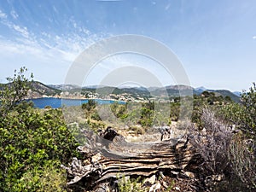
[[[3,84],[2,84],[3,85]],[[0,90],[3,86],[0,84]],[[90,85],[79,87],[73,84],[43,84],[38,81],[32,81],[31,90],[29,91],[29,98],[39,98],[43,96],[61,96],[61,91],[65,90],[67,97],[73,98],[73,96],[93,96],[93,98],[98,96],[109,96],[113,95],[123,95],[131,96],[133,98],[144,98],[148,99],[150,97],[176,97],[176,96],[189,96],[192,93],[195,95],[201,95],[203,91],[207,89],[205,87],[193,88],[191,86],[177,84],[168,85],[165,87],[113,87],[113,86],[102,86],[102,85]],[[240,102],[240,92],[232,93],[230,90],[207,90],[209,92],[214,92],[216,96],[230,96],[230,98],[235,102]],[[118,97],[117,97],[118,98]]]

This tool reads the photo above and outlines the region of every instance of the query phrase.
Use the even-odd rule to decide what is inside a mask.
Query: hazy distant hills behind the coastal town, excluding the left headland
[[[204,87],[200,88],[193,88],[191,86],[177,84],[177,85],[168,85],[165,87],[122,87],[117,88],[113,86],[84,86],[80,88],[77,85],[71,84],[61,84],[61,85],[49,85],[51,89],[55,89],[56,92],[67,90],[71,94],[76,94],[81,92],[82,96],[90,97],[94,96],[104,98],[104,96],[108,96],[109,94],[115,95],[114,98],[120,98],[120,96],[130,96],[134,99],[143,98],[147,100],[148,98],[152,97],[159,97],[159,98],[166,98],[166,97],[177,97],[180,95],[189,96],[192,94],[201,95],[201,93],[207,90]],[[207,90],[209,92],[214,92],[216,96],[230,96],[230,98],[234,102],[240,102],[240,97],[236,96],[236,94],[232,93],[230,90]],[[116,97],[117,96],[117,97]]]

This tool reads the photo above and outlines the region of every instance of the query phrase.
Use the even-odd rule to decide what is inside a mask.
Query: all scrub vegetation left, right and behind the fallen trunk
[[[67,175],[61,164],[67,165],[73,157],[79,157],[76,148],[81,141],[74,138],[79,134],[75,132],[78,127],[97,131],[108,125],[126,126],[127,131],[140,135],[150,126],[172,125],[179,119],[179,97],[168,104],[97,105],[90,100],[82,108],[68,108],[64,118],[62,109],[38,109],[31,102],[21,102],[31,82],[25,73],[26,68],[22,67],[1,90],[0,191],[71,191],[66,186]],[[209,91],[195,95],[191,120],[186,129],[191,143],[199,148],[205,160],[201,165],[202,177],[224,177],[223,182],[213,183],[209,189],[255,190],[255,84],[241,95],[239,103],[232,102],[230,96]],[[119,190],[125,189],[129,187],[120,184]]]

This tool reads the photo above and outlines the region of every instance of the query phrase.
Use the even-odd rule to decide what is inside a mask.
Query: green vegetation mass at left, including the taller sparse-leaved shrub
[[[33,108],[20,102],[29,80],[21,68],[2,91],[0,116],[0,191],[65,191],[61,163],[77,156],[78,143],[61,109]]]

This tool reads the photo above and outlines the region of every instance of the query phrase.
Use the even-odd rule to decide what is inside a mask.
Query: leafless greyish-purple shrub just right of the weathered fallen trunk
[[[202,131],[190,125],[190,142],[197,148],[204,162],[201,164],[203,177],[223,174],[229,167],[228,149],[232,138],[227,125],[215,117],[208,108],[202,110]]]

